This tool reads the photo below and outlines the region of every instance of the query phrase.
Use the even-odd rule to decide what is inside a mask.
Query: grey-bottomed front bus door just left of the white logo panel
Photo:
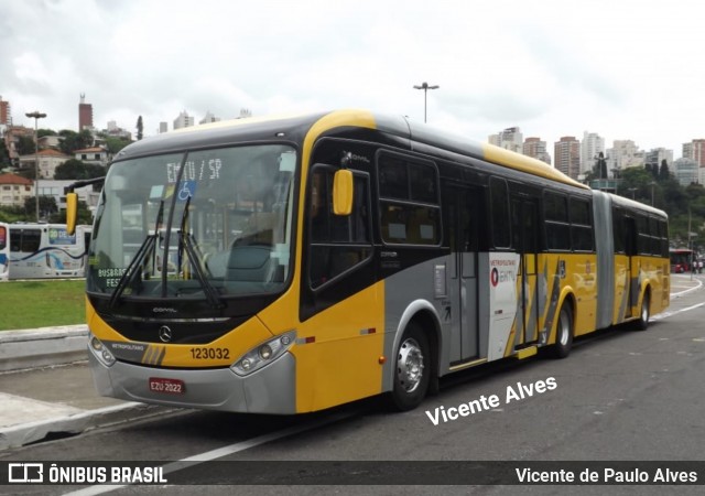
[[[451,321],[451,363],[478,356],[477,251],[479,190],[444,184],[442,197],[451,248],[445,319]]]

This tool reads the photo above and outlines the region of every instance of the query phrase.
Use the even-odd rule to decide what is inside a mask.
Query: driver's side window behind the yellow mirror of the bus
[[[311,174],[308,277],[316,289],[366,261],[372,254],[369,176],[354,175],[352,213],[333,213],[333,176],[336,169],[318,165]]]

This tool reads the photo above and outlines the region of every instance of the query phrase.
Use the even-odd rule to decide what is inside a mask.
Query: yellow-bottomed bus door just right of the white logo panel
[[[517,277],[519,308],[514,346],[539,341],[539,205],[535,200],[512,200],[512,236],[520,255]]]

